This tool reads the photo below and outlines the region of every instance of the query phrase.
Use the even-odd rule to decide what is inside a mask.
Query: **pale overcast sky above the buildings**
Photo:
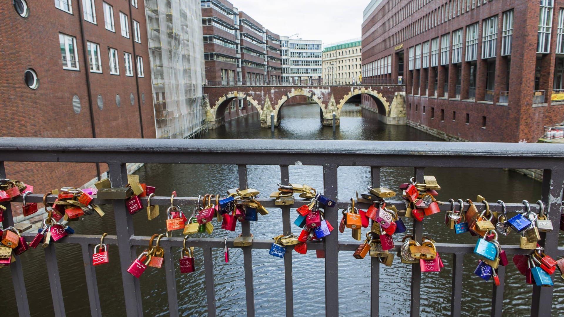
[[[280,36],[320,39],[323,44],[360,37],[362,12],[370,0],[230,0]],[[295,38],[295,37],[294,37]]]

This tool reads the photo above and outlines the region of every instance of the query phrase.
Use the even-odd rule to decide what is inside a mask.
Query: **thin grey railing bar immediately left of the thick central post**
[[[288,165],[280,165],[280,182],[283,185],[289,184],[290,173]],[[290,234],[290,206],[283,206],[282,210],[282,230],[285,235]],[[286,293],[286,316],[294,315],[294,285],[292,281],[292,252],[287,252],[284,256],[284,285]]]

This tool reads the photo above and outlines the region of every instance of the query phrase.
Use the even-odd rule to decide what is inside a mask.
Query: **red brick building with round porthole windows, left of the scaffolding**
[[[0,15],[3,137],[155,138],[143,1],[14,0]],[[97,174],[95,164],[6,171],[36,192]]]

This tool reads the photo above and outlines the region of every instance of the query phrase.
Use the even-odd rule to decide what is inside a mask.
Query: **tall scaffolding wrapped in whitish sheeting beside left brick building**
[[[145,0],[157,138],[191,138],[204,127],[200,0]]]

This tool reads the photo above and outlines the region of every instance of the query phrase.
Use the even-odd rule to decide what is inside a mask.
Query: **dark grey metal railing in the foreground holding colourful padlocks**
[[[421,182],[425,167],[429,168],[522,168],[543,169],[542,197],[549,219],[552,219],[555,230],[541,233],[539,243],[544,245],[545,253],[553,257],[562,256],[564,248],[558,248],[559,215],[562,208],[562,191],[564,187],[564,148],[554,144],[531,143],[470,143],[470,142],[382,142],[382,141],[350,141],[350,140],[164,140],[164,139],[51,139],[51,138],[3,138],[0,139],[0,178],[6,175],[4,161],[26,162],[104,162],[108,164],[109,179],[113,187],[123,187],[127,184],[126,162],[162,163],[162,164],[233,164],[239,166],[239,187],[247,188],[247,170],[249,165],[279,165],[280,179],[283,183],[290,182],[289,165],[316,165],[323,167],[324,195],[336,200],[337,170],[339,166],[371,166],[372,187],[380,187],[381,168],[385,166],[413,167],[416,180]],[[252,168],[252,167],[251,167]],[[400,180],[398,180],[400,181]],[[29,195],[27,201],[42,202],[43,195]],[[52,202],[55,195],[47,197]],[[196,204],[196,197],[176,197],[175,202],[180,205]],[[21,198],[15,199],[21,201]],[[143,205],[147,200],[142,199]],[[170,197],[153,197],[152,204],[168,205]],[[290,232],[290,208],[292,206],[276,206],[272,199],[260,199],[268,208],[280,208],[284,232]],[[296,199],[294,206],[305,202]],[[122,284],[125,294],[125,309],[127,316],[142,316],[142,297],[140,282],[126,272],[127,267],[136,258],[135,246],[146,245],[148,236],[134,235],[132,215],[127,212],[125,200],[104,201],[94,199],[96,204],[112,204],[116,220],[116,236],[107,236],[107,243],[118,245],[120,253]],[[389,201],[398,208],[406,208],[403,200]],[[348,201],[338,201],[333,208],[325,208],[326,219],[332,223],[339,223],[339,209],[348,206]],[[359,204],[361,207],[364,204]],[[482,203],[476,204],[479,211],[484,209]],[[522,204],[506,204],[508,212],[522,210]],[[441,210],[450,210],[450,203],[440,205]],[[460,208],[456,204],[456,208]],[[531,205],[532,211],[538,207]],[[499,204],[490,203],[490,210],[501,212]],[[5,211],[3,227],[13,224],[11,208]],[[413,235],[421,243],[423,223],[413,222]],[[242,223],[244,236],[250,235],[249,222]],[[337,231],[335,231],[337,232]],[[27,241],[35,234],[24,233]],[[342,242],[338,234],[324,238],[324,241],[308,243],[308,249],[324,249],[325,270],[325,315],[339,315],[339,268],[338,252],[355,250],[359,243]],[[92,316],[101,316],[96,271],[91,265],[92,246],[98,244],[100,236],[74,234],[64,237],[57,243],[79,244],[85,263],[86,284]],[[171,248],[182,247],[183,239],[170,237],[161,240],[160,245],[165,248],[166,285],[170,316],[178,316],[178,298],[174,270],[174,256]],[[252,249],[269,249],[272,240],[255,239],[250,246],[242,247],[244,257],[246,312],[254,316],[254,287],[253,287],[253,256]],[[399,244],[399,243],[398,243]],[[214,268],[211,250],[223,248],[223,239],[191,238],[190,246],[202,248],[205,267],[205,292],[209,316],[216,315]],[[474,244],[437,243],[437,251],[446,257],[453,254],[452,267],[452,301],[451,316],[460,316],[462,301],[462,270],[465,254],[473,253]],[[228,240],[229,248],[233,240]],[[503,245],[506,254],[526,254],[527,250],[519,249],[518,245]],[[395,247],[399,250],[399,245]],[[30,251],[32,252],[32,251]],[[46,270],[50,280],[50,290],[55,310],[55,316],[65,316],[63,293],[60,287],[58,259],[55,245],[50,244],[45,249]],[[371,315],[379,315],[380,299],[380,263],[378,258],[371,258],[371,296],[356,298],[355,305],[369,305]],[[294,314],[294,298],[292,284],[292,254],[288,252],[284,257],[285,275],[285,309],[287,316]],[[12,282],[15,288],[17,309],[20,316],[29,316],[29,301],[24,283],[21,261],[11,265]],[[403,272],[401,273],[403,274]],[[493,287],[492,316],[501,316],[504,293],[505,267],[500,266],[497,273],[500,286]],[[318,282],[319,283],[319,282]],[[323,283],[323,282],[321,282]],[[39,287],[28,283],[28,287]],[[41,286],[43,287],[43,286]],[[385,292],[385,289],[382,290]],[[420,314],[421,271],[419,263],[411,268],[411,298],[405,304],[411,303],[411,316]],[[549,316],[553,297],[553,288],[533,287],[531,316]],[[299,307],[307,309],[307,307]]]

